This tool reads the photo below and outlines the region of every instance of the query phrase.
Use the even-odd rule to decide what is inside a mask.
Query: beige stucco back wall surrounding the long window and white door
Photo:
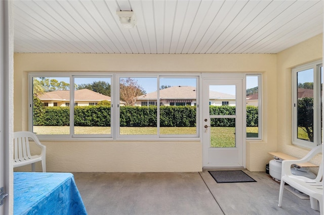
[[[127,55],[16,53],[14,56],[15,131],[28,130],[28,72],[244,72],[262,73],[263,140],[247,141],[246,167],[264,171],[277,149],[276,55]],[[48,172],[201,171],[198,141],[42,141]],[[40,170],[40,165],[37,166]],[[17,170],[27,170],[23,167]]]

